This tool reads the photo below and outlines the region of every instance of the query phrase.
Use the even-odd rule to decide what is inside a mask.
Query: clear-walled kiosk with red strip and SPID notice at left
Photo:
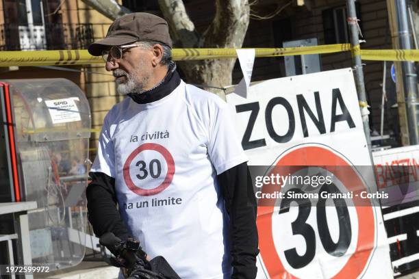
[[[33,265],[77,265],[88,226],[86,96],[67,79],[15,79],[0,83],[0,101],[0,202],[37,202],[28,213]],[[12,220],[0,222],[0,234],[12,233]]]

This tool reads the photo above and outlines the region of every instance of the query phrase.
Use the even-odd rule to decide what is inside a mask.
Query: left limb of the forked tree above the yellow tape
[[[164,18],[168,21],[172,33],[175,35],[182,47],[198,47],[199,34],[196,32],[195,25],[186,13],[185,5],[182,0],[159,0],[160,10]]]

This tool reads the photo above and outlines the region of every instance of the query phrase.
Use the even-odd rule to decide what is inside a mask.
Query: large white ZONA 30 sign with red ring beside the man
[[[371,164],[351,69],[264,81],[227,103],[249,165],[319,166],[334,178],[328,191],[372,190],[351,168]],[[292,187],[283,191],[304,194]],[[392,278],[379,207],[355,207],[357,197],[339,206],[305,202],[258,207],[257,278]]]

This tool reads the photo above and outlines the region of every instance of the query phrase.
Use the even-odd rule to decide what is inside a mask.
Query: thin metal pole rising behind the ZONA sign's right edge
[[[366,92],[364,84],[364,72],[362,72],[361,53],[359,47],[359,25],[357,12],[355,10],[355,0],[346,0],[346,10],[348,11],[348,27],[351,33],[351,47],[353,68],[355,75],[355,85],[357,88],[359,106],[361,107],[362,124],[364,125],[364,133],[368,144],[368,151],[371,155],[371,139],[370,124],[368,122],[368,107],[366,101]]]

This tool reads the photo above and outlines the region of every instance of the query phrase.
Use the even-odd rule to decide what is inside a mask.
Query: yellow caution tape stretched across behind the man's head
[[[361,49],[359,45],[325,44],[312,47],[255,49],[256,57],[325,54],[351,51],[363,60],[419,61],[419,50]],[[173,60],[223,59],[237,57],[236,49],[173,49]],[[103,63],[101,56],[87,50],[75,51],[0,51],[0,67],[8,66],[65,66]]]

